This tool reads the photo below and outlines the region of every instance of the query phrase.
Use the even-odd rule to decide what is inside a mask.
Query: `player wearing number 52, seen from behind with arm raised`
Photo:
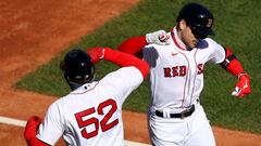
[[[69,146],[124,145],[122,105],[146,78],[149,66],[110,48],[87,53],[66,53],[61,68],[73,91],[50,105],[44,122],[36,116],[28,120],[24,136],[29,146],[54,145],[61,136]],[[94,81],[94,64],[101,58],[122,68]]]

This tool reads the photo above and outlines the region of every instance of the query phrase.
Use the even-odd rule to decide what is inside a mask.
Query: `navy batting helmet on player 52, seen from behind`
[[[72,90],[92,81],[95,77],[91,57],[79,49],[67,52],[60,68],[64,71],[64,78]]]

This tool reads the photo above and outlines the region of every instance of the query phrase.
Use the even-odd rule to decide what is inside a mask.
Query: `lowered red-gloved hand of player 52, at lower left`
[[[37,134],[37,130],[39,124],[41,123],[41,119],[37,116],[32,116],[26,125],[24,131],[24,137],[26,141],[29,141],[32,137],[35,137]]]

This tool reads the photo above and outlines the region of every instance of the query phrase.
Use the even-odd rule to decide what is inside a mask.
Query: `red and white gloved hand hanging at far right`
[[[243,97],[244,95],[250,94],[251,88],[250,88],[249,75],[241,74],[239,75],[238,78],[239,78],[239,81],[237,82],[236,88],[232,92],[232,95],[237,97]]]

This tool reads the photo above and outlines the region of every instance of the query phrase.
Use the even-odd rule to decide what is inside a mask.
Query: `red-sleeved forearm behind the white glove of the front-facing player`
[[[123,41],[119,45],[117,50],[136,55],[136,54],[140,53],[142,48],[147,44],[148,44],[148,42],[146,40],[146,36],[134,37],[134,38]]]

